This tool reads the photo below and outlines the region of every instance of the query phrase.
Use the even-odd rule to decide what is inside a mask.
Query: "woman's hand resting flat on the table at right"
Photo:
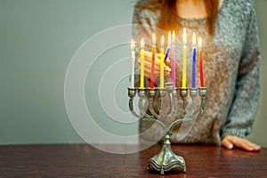
[[[255,144],[254,142],[249,142],[246,139],[243,139],[235,135],[226,135],[225,137],[223,137],[222,144],[228,150],[231,150],[234,147],[238,147],[240,149],[247,150],[247,151],[260,151],[261,150],[261,147]]]

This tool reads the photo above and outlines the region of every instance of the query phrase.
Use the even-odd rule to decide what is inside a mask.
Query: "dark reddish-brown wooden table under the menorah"
[[[255,153],[173,144],[174,152],[185,159],[187,172],[161,176],[146,170],[147,161],[160,148],[111,154],[86,144],[0,146],[0,177],[267,177],[267,149]]]

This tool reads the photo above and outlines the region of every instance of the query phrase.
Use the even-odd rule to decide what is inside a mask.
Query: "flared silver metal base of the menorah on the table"
[[[148,170],[160,171],[160,174],[164,174],[170,170],[178,170],[185,173],[185,161],[182,157],[174,154],[171,149],[171,142],[167,139],[163,143],[163,147],[153,158],[150,158],[148,163]]]

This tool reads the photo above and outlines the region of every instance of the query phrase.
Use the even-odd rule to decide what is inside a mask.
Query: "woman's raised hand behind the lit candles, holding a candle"
[[[145,51],[144,53],[144,76],[150,78],[151,77],[151,61],[152,61],[152,53]],[[169,62],[167,60],[167,62]],[[140,60],[138,60],[139,69],[140,69]],[[164,64],[165,75],[171,72],[171,69]],[[156,53],[155,55],[155,70],[154,70],[155,79],[160,76],[160,53]]]

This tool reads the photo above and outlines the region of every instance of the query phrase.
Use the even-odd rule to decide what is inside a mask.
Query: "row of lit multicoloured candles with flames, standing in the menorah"
[[[154,70],[155,70],[155,54],[156,54],[156,35],[152,34],[152,59],[151,59],[151,77],[150,77],[150,88],[154,88]],[[144,38],[141,40],[141,52],[140,52],[140,88],[144,88]],[[173,35],[169,31],[168,33],[168,44],[166,53],[164,53],[165,37],[161,36],[161,48],[160,48],[160,88],[164,88],[164,64],[169,55],[169,51],[172,48],[172,81],[175,88],[175,33]],[[198,37],[198,62],[199,62],[199,79],[200,87],[204,87],[203,78],[203,63],[202,63],[202,50],[201,50],[201,36]],[[134,88],[134,63],[135,63],[135,52],[134,52],[134,39],[131,43],[132,48],[132,74],[131,74],[131,87]],[[193,48],[192,48],[192,88],[196,88],[196,35],[193,33]],[[183,28],[183,64],[182,64],[182,88],[186,88],[186,61],[187,61],[187,46],[186,46],[186,28]]]

